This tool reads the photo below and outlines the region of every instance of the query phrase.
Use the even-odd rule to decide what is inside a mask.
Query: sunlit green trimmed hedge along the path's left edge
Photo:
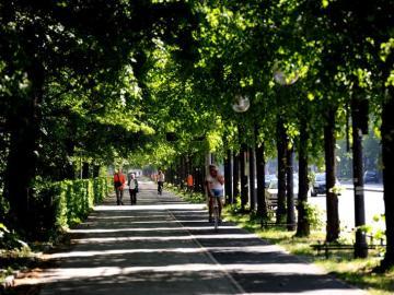
[[[30,205],[31,212],[34,212],[31,231],[37,232],[31,234],[36,238],[46,238],[54,232],[80,223],[112,189],[108,178],[36,185]]]

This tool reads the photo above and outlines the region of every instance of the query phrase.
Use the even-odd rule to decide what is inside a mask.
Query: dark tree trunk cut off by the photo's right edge
[[[382,157],[383,187],[386,224],[386,252],[381,262],[383,270],[394,267],[394,88],[391,86],[390,98],[383,105],[382,113]]]

